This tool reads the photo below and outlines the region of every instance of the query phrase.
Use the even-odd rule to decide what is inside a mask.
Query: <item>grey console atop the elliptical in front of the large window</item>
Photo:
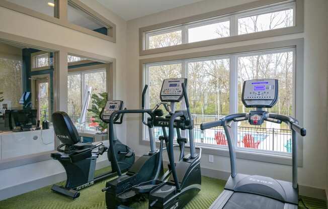
[[[179,102],[183,97],[182,83],[187,85],[187,78],[168,78],[163,80],[160,90],[160,100]]]

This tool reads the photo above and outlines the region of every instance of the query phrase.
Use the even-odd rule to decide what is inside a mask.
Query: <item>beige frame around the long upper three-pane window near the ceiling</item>
[[[291,8],[291,5],[294,5],[293,26],[238,35],[238,17],[242,17],[243,14],[261,14],[263,12],[265,12],[266,14],[268,13],[268,11],[270,12],[272,8],[274,8],[274,11],[277,12],[278,9],[283,10],[283,8]],[[189,27],[189,25],[192,26],[193,24],[199,24],[200,26],[204,26],[208,25],[208,22],[220,19],[226,19],[230,21],[230,36],[188,43],[188,33],[186,32],[186,30],[188,31],[188,29],[186,28]],[[202,23],[204,25],[202,25]],[[160,34],[159,31],[161,30],[167,30],[168,28],[175,27],[182,28],[182,44],[147,49],[147,33],[152,33],[153,31],[156,31]],[[304,0],[260,0],[222,10],[217,10],[214,12],[209,12],[201,15],[139,28],[139,55],[142,56],[162,52],[191,49],[196,47],[211,46],[223,43],[231,43],[236,41],[246,41],[259,38],[281,36],[287,34],[301,33],[303,31]]]

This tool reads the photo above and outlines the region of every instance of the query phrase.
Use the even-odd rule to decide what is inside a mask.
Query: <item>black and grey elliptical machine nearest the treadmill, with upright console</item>
[[[149,194],[148,208],[178,209],[183,208],[201,190],[201,168],[200,158],[202,150],[195,146],[194,142],[194,123],[190,113],[189,100],[186,89],[186,78],[169,78],[163,81],[160,100],[171,102],[172,111],[170,116],[162,124],[169,125],[169,167],[172,175],[168,181],[159,184]],[[185,99],[187,110],[175,111],[175,102]],[[180,153],[180,159],[174,159],[174,131],[177,132],[177,142],[183,147],[187,139],[179,139],[180,130],[188,130],[190,154],[184,156],[184,151]],[[199,149],[199,154],[196,153]]]

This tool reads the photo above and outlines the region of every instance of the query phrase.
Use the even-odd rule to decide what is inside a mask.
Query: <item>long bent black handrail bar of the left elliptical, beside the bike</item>
[[[114,118],[116,115],[118,114],[136,114],[136,113],[142,113],[142,115],[144,113],[147,113],[151,116],[151,110],[150,109],[144,109],[144,110],[119,110],[119,111],[115,111],[112,113],[110,119],[109,119],[109,149],[111,150],[111,153],[115,153],[115,149],[114,149]],[[113,166],[114,166],[114,169],[116,169],[117,171],[117,175],[118,176],[121,176],[122,175],[122,172],[121,172],[121,169],[120,169],[120,166],[118,165],[118,162],[117,162],[117,158],[116,158],[116,155],[113,154],[112,156],[112,162],[111,163],[114,163]]]

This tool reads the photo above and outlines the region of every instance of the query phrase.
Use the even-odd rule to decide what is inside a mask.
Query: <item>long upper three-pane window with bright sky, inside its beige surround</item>
[[[296,0],[286,2],[243,9],[242,11],[236,10],[229,14],[221,12],[224,15],[202,20],[197,20],[199,17],[196,16],[194,18],[196,21],[193,22],[186,23],[183,20],[178,20],[177,22],[181,22],[179,25],[154,30],[148,29],[141,34],[144,39],[142,50],[295,26]],[[209,16],[213,16],[213,14]]]

